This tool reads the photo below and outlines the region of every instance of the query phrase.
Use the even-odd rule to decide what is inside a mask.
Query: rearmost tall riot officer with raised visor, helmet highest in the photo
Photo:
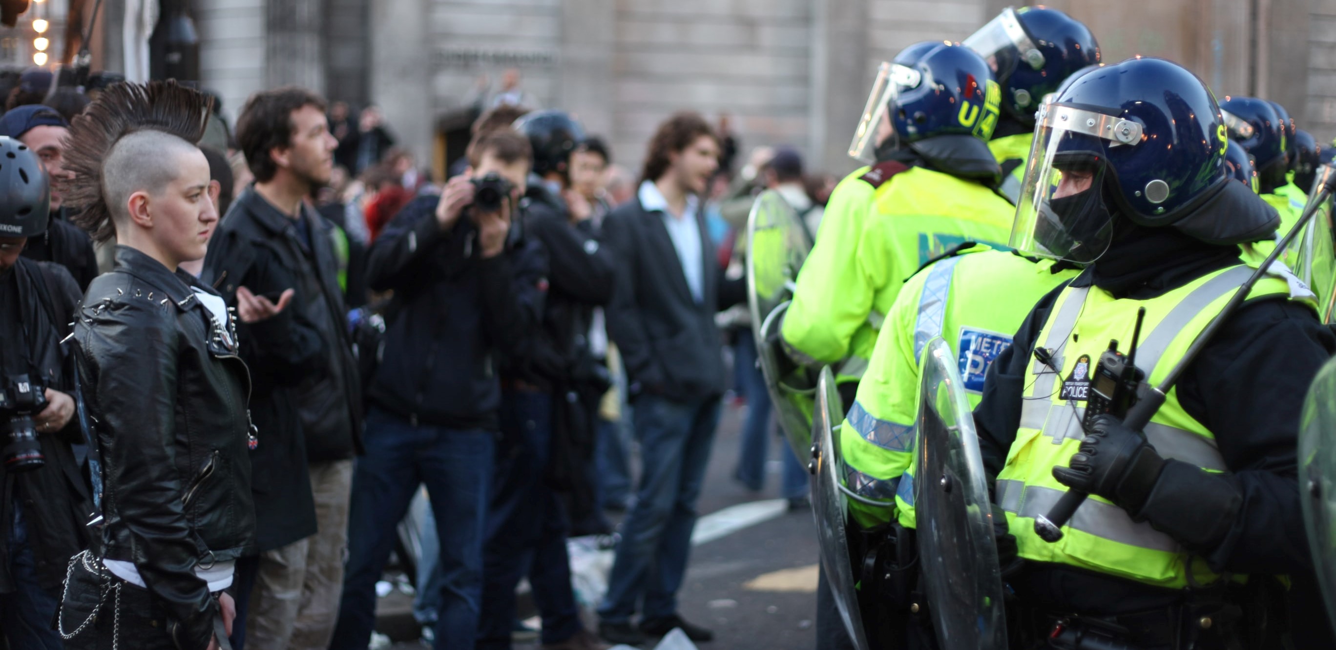
[[[1100,43],[1085,24],[1058,9],[1007,7],[963,44],[989,62],[1002,87],[1002,115],[989,148],[1002,166],[1002,193],[1014,203],[1039,103],[1067,78],[1098,66]]]

